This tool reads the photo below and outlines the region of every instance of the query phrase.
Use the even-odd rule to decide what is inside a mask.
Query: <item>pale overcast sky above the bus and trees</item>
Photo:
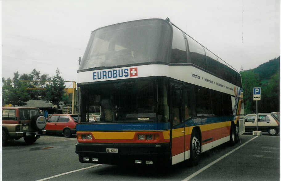
[[[279,57],[279,0],[2,0],[2,77],[59,68],[76,81],[91,31],[167,17],[237,70]]]

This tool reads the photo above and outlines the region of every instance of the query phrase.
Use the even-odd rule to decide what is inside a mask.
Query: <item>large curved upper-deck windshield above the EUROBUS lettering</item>
[[[119,23],[92,32],[79,70],[153,61],[168,62],[172,28],[161,19]]]

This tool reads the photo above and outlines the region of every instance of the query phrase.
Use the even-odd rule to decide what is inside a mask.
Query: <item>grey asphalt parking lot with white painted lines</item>
[[[41,136],[33,145],[24,140],[2,147],[2,180],[279,180],[279,135],[244,133],[241,141],[202,153],[197,166],[186,162],[169,170],[80,163],[75,135]],[[83,176],[83,177],[82,177]]]

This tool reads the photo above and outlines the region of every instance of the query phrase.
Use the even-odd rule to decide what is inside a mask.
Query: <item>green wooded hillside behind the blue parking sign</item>
[[[240,72],[245,114],[256,112],[256,101],[253,101],[254,87],[261,87],[258,112],[279,112],[279,61],[280,57],[259,65],[255,69]]]

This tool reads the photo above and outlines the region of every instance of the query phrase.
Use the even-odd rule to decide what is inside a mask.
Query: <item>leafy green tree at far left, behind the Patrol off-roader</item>
[[[18,71],[14,73],[13,81],[2,77],[2,105],[12,104],[13,106],[24,106],[26,101],[30,99],[26,91],[26,84],[19,81]]]

